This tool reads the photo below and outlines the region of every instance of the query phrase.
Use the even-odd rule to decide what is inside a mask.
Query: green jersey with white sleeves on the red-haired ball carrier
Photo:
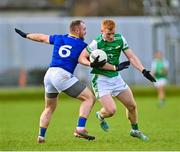
[[[87,51],[91,53],[95,49],[101,49],[107,54],[107,62],[112,65],[119,64],[119,58],[122,51],[125,51],[129,48],[127,41],[120,34],[114,34],[114,41],[108,42],[103,39],[103,35],[100,34],[93,40],[87,47]],[[103,70],[93,68],[91,73],[101,74],[107,77],[115,77],[118,75],[118,71],[112,70]]]

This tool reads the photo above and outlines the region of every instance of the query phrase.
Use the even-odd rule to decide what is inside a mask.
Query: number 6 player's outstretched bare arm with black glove
[[[17,28],[15,28],[15,32],[18,33],[23,38],[49,44],[49,35],[39,34],[39,33],[25,33]]]

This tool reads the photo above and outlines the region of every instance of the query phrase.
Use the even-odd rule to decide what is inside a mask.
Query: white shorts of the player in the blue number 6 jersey
[[[51,67],[47,70],[44,77],[44,86],[46,93],[60,93],[73,84],[78,79],[71,73],[59,67]]]

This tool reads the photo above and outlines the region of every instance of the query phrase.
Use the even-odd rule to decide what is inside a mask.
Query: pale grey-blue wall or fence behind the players
[[[0,74],[13,68],[29,70],[48,67],[51,60],[51,45],[25,40],[14,32],[15,27],[29,33],[65,34],[68,32],[69,23],[73,19],[83,19],[86,22],[86,42],[91,42],[100,33],[102,17],[0,18]],[[180,61],[178,61],[180,57],[180,43],[178,40],[180,33],[177,32],[180,29],[180,24],[169,24],[169,26],[163,26],[165,24],[162,24],[160,28],[156,28],[155,25],[161,23],[159,18],[114,17],[113,19],[117,23],[116,31],[124,35],[129,46],[147,69],[150,69],[153,53],[156,49],[161,50],[166,58],[170,60],[170,67],[173,65],[173,68],[171,68],[173,74],[169,76],[171,82],[180,83],[178,77],[180,75],[180,66],[178,66],[180,65]],[[155,34],[153,34],[154,31]],[[125,59],[125,56],[122,56],[121,60]],[[75,73],[81,79],[89,81],[89,71],[89,68],[79,66]],[[121,73],[130,84],[150,84],[132,66]]]

